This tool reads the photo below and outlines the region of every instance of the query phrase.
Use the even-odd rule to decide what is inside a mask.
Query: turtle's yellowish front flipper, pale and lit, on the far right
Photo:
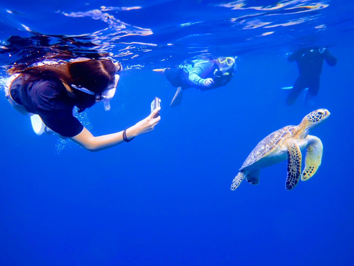
[[[301,180],[305,181],[312,177],[318,167],[321,165],[323,145],[318,137],[308,135],[306,137],[308,144],[306,146],[305,168],[301,174]]]

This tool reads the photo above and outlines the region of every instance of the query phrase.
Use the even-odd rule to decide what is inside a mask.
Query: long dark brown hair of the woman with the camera
[[[24,73],[26,81],[57,78],[68,84],[84,87],[95,94],[101,94],[114,82],[115,66],[111,60],[90,59],[79,62],[62,62],[55,65],[42,65],[9,70],[10,74]],[[79,112],[95,104],[95,96],[70,87],[76,96],[75,105]]]

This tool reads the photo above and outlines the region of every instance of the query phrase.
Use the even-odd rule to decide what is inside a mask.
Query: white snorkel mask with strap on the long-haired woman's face
[[[74,84],[71,84],[71,87],[73,87],[73,88],[75,88],[77,90],[80,90],[81,92],[94,95],[95,99],[98,100],[98,101],[102,100],[103,101],[104,110],[105,111],[109,111],[110,110],[109,101],[113,98],[113,96],[115,94],[115,90],[116,90],[116,88],[118,86],[118,81],[119,81],[119,77],[120,77],[119,74],[123,71],[123,67],[122,67],[121,63],[115,62],[114,65],[115,65],[115,73],[116,73],[114,75],[114,83],[112,85],[108,86],[108,88],[105,89],[102,92],[102,94],[98,94],[98,93],[92,92],[89,89],[86,89],[84,87],[79,87],[79,86],[76,86]]]

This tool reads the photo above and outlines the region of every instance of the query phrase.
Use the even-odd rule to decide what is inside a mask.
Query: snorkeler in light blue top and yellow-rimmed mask
[[[163,68],[154,71],[164,74],[172,86],[177,87],[170,104],[170,107],[175,107],[182,101],[183,90],[193,87],[202,91],[219,88],[230,82],[236,69],[235,57],[219,57],[182,68]]]

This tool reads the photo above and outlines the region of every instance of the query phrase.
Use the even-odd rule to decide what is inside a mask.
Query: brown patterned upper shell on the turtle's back
[[[286,138],[293,135],[295,129],[296,126],[286,126],[270,133],[257,144],[239,170],[254,164],[268,155],[277,153],[280,150],[281,144]]]

